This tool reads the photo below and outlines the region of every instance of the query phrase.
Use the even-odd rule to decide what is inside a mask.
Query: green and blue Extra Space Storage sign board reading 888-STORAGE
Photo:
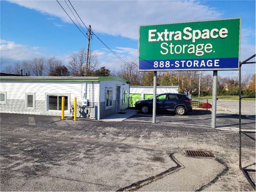
[[[240,31],[240,18],[140,26],[138,70],[238,70]]]

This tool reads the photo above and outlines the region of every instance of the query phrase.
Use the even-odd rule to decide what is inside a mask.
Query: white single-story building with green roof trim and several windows
[[[72,116],[74,97],[91,119],[128,108],[129,84],[119,77],[0,76],[0,112]],[[80,116],[77,107],[77,116]]]

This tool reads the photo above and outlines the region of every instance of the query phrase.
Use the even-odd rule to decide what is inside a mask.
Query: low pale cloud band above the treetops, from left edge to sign
[[[136,62],[137,60],[137,49],[130,47],[116,47],[114,50],[127,62]],[[106,66],[113,71],[119,70],[121,64],[123,64],[122,61],[116,58],[116,56],[108,49],[94,50],[93,52],[97,56],[101,67]],[[71,53],[45,55],[39,52],[39,47],[29,47],[17,44],[14,41],[0,39],[0,63],[2,67],[4,65],[13,64],[16,61],[30,60],[35,57],[55,57],[56,59],[62,60],[64,64],[68,64],[70,61],[70,55]]]

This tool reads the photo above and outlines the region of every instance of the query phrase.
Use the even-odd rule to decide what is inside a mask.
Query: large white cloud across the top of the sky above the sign
[[[10,0],[20,6],[72,23],[56,1]],[[200,1],[71,1],[81,19],[94,32],[138,38],[138,26],[218,18],[221,13]],[[64,1],[61,5],[73,18]],[[72,8],[71,8],[72,9]]]

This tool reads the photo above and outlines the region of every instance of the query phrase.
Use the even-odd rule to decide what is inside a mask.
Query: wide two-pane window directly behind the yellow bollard
[[[69,96],[47,95],[47,111],[61,111],[62,97],[64,97],[64,111],[68,111]]]

